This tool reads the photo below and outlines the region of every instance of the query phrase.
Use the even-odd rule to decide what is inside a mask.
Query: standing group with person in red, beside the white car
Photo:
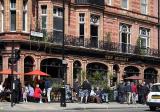
[[[121,82],[117,88],[118,91],[118,101],[120,103],[127,102],[128,104],[146,103],[147,95],[152,87],[152,83],[147,84],[145,82],[135,83],[135,82]]]

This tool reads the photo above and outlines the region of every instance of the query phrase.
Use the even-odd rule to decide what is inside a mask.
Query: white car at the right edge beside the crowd
[[[150,110],[156,110],[156,108],[160,108],[160,83],[155,83],[151,87],[151,91],[147,96],[147,105]]]

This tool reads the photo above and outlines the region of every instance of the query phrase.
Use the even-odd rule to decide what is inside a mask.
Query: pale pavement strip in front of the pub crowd
[[[147,105],[142,104],[119,104],[111,103],[67,103],[66,107],[61,107],[60,103],[20,103],[11,107],[10,102],[0,102],[0,112],[29,112],[29,111],[53,111],[53,110],[84,110],[84,109],[124,109],[124,108],[148,108]]]

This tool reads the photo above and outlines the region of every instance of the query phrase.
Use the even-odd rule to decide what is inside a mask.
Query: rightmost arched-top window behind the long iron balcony
[[[149,38],[149,35],[150,35],[150,30],[147,29],[147,28],[140,28],[140,31],[139,31],[139,38],[140,38],[140,47],[141,48],[147,48],[149,47],[150,45],[150,38]]]

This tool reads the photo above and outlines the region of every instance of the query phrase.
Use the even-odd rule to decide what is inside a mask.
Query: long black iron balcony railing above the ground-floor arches
[[[50,34],[48,33],[46,37],[40,38],[39,41],[45,41],[45,42],[53,43],[55,45],[62,45],[62,41],[63,41],[62,38],[54,38],[52,33]],[[37,39],[35,39],[34,37],[32,37],[31,39],[37,41]],[[64,39],[65,39],[64,44],[68,46],[106,50],[108,52],[160,57],[158,49],[153,49],[153,48],[144,49],[144,48],[140,48],[138,46],[126,44],[126,43],[108,42],[103,40],[95,40],[92,38],[82,39],[82,38],[71,36],[71,35],[66,35]]]

